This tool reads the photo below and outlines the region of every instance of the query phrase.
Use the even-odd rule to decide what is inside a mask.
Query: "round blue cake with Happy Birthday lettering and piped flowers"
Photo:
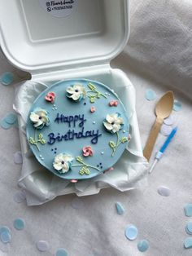
[[[66,80],[35,99],[26,133],[42,166],[76,182],[116,164],[129,143],[129,119],[107,86],[86,79]]]

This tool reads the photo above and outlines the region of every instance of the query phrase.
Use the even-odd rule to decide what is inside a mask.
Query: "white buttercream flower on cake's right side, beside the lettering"
[[[111,133],[116,133],[124,124],[124,119],[120,117],[119,113],[107,114],[106,121],[103,121],[105,128]]]

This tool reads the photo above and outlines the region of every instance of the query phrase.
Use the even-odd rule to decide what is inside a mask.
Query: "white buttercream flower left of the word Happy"
[[[42,129],[44,126],[49,126],[50,120],[45,109],[36,108],[30,114],[30,120],[33,121],[33,126],[37,129]]]

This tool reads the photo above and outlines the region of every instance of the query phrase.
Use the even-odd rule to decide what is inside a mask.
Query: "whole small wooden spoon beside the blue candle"
[[[151,152],[154,148],[155,141],[159,134],[160,127],[163,124],[164,118],[168,117],[172,113],[172,107],[174,103],[174,97],[172,91],[168,91],[161,99],[159,99],[156,104],[155,114],[156,120],[155,124],[151,129],[151,133],[146,142],[146,147],[143,150],[143,156],[149,161],[151,157]]]

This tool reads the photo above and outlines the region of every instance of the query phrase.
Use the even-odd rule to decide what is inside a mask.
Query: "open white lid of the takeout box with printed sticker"
[[[0,44],[31,73],[109,63],[129,38],[129,0],[0,0]]]

